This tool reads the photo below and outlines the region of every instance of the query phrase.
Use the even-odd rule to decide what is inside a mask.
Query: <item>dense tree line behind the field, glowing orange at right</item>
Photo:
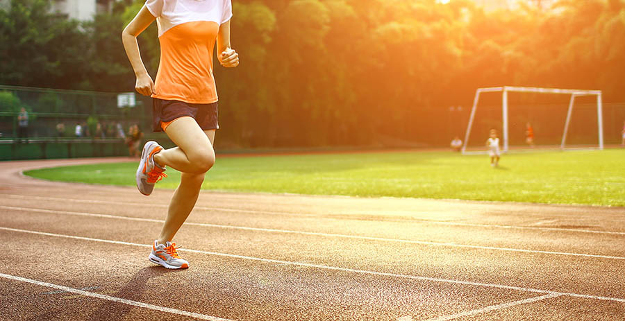
[[[0,85],[131,91],[120,33],[142,2],[81,23],[46,0],[10,1]],[[625,101],[625,0],[533,3],[233,0],[241,64],[215,69],[221,131],[238,146],[383,145],[427,139],[477,87],[601,89]],[[156,24],[140,48],[156,76]]]

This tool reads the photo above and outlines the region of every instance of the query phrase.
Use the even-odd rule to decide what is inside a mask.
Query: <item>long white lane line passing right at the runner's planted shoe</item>
[[[83,241],[94,241],[94,242],[110,243],[110,244],[120,244],[120,245],[133,245],[133,246],[140,246],[142,248],[151,248],[152,247],[152,245],[147,245],[147,244],[130,243],[130,242],[124,242],[124,241],[111,241],[111,240],[104,240],[104,239],[101,239],[101,238],[90,238],[90,237],[84,237],[84,236],[53,234],[53,233],[47,233],[47,232],[29,231],[27,229],[13,229],[13,228],[10,228],[10,227],[0,227],[0,229],[3,229],[5,231],[10,231],[10,232],[37,234],[37,235],[53,236],[53,237],[60,237],[60,238],[72,238],[72,239],[83,240]],[[260,257],[246,257],[246,256],[243,256],[243,255],[227,254],[227,253],[219,253],[219,252],[208,252],[208,251],[191,250],[191,249],[183,249],[183,248],[181,248],[178,251],[198,253],[198,254],[208,254],[208,255],[214,255],[216,257],[228,257],[228,258],[232,258],[232,259],[244,259],[244,260],[258,261],[258,262],[265,262],[265,263],[285,264],[285,265],[290,265],[290,266],[303,266],[303,267],[306,267],[306,268],[320,268],[320,269],[324,269],[324,270],[335,270],[335,271],[352,272],[352,273],[359,273],[359,274],[365,274],[365,275],[376,275],[376,276],[381,276],[381,277],[398,277],[398,278],[402,278],[402,279],[415,279],[415,280],[419,280],[419,281],[433,281],[433,282],[449,283],[449,284],[462,284],[462,285],[466,285],[466,286],[481,286],[481,287],[485,287],[485,288],[503,288],[503,289],[506,289],[506,290],[519,290],[519,291],[532,292],[532,293],[545,293],[545,294],[565,295],[567,297],[580,297],[582,299],[594,299],[594,300],[615,301],[615,302],[624,302],[625,303],[625,299],[618,298],[618,297],[603,297],[603,296],[598,296],[598,295],[585,295],[585,294],[579,294],[579,293],[556,292],[556,291],[551,291],[551,290],[540,290],[540,289],[536,289],[536,288],[522,288],[522,287],[519,287],[519,286],[506,286],[506,285],[503,285],[503,284],[490,284],[490,283],[481,283],[481,282],[472,282],[472,281],[460,281],[460,280],[454,280],[454,279],[440,279],[440,278],[435,278],[435,277],[417,277],[415,275],[402,275],[402,274],[395,274],[395,273],[388,273],[388,272],[375,272],[375,271],[368,271],[368,270],[356,270],[356,269],[353,269],[353,268],[339,268],[339,267],[336,267],[336,266],[324,266],[324,265],[321,265],[321,264],[313,264],[313,263],[281,261],[281,260],[274,260],[274,259],[262,259]]]

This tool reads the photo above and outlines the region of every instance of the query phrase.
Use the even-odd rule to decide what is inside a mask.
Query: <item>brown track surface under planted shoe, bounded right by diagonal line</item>
[[[451,313],[483,302],[505,302],[510,297],[521,300],[533,295],[194,253],[185,255],[194,262],[190,269],[172,271],[149,263],[142,248],[45,236],[35,242],[32,239],[19,234],[0,236],[1,241],[11,245],[29,243],[23,254],[16,253],[16,259],[29,268],[9,268],[7,274],[19,273],[22,277],[74,288],[101,286],[94,291],[177,309],[184,307],[196,313],[219,313],[221,318],[235,320],[364,320],[369,316],[392,320],[406,314],[427,318],[438,311]],[[56,245],[52,250],[42,246],[49,247],[51,243]],[[80,251],[81,255],[68,257],[56,266],[47,266],[38,259],[41,254],[60,254],[65,248]],[[109,252],[123,252],[131,259],[122,266],[85,266],[90,257],[104,257]],[[81,273],[63,275],[63,271],[74,266],[83,266]],[[83,273],[90,278],[85,280]],[[111,277],[115,282],[106,281]]]

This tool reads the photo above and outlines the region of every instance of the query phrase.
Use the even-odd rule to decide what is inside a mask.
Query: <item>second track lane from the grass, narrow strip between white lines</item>
[[[67,202],[38,200],[37,204],[20,206],[21,199],[0,197],[0,210],[49,212],[67,216],[111,215],[119,219],[145,218],[163,220],[166,208],[128,205],[94,206],[90,203],[67,205]],[[96,205],[99,205],[98,203]],[[165,205],[164,205],[165,206]],[[55,213],[54,211],[58,211]],[[208,211],[196,209],[188,219],[190,225],[233,229],[270,229],[288,234],[338,234],[349,238],[381,238],[399,243],[433,243],[439,246],[491,247],[508,250],[562,252],[572,254],[625,257],[625,237],[620,234],[587,234],[575,231],[544,231],[536,229],[498,229],[458,225],[431,224],[422,220],[319,220],[313,218],[281,218],[247,212]],[[313,223],[313,224],[311,224]],[[606,224],[615,224],[605,222]],[[262,232],[262,231],[260,231]],[[272,231],[265,231],[272,232]],[[331,235],[328,235],[331,236]],[[479,237],[476,237],[479,236]],[[589,249],[592,249],[589,250]]]

